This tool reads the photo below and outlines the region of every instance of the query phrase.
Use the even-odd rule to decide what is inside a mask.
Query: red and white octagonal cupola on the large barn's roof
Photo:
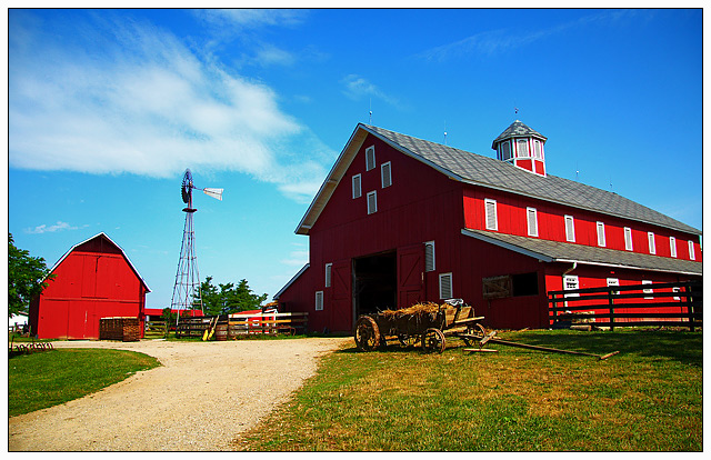
[[[540,132],[515,120],[493,140],[491,148],[497,151],[499,160],[545,177],[543,144],[547,140]]]

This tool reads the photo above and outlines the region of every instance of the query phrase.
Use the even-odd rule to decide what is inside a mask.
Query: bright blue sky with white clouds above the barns
[[[697,10],[10,10],[8,227],[48,266],[106,232],[170,303],[196,194],[201,278],[273,296],[359,122],[494,157],[520,119],[550,174],[702,229]],[[514,108],[519,109],[514,113]]]

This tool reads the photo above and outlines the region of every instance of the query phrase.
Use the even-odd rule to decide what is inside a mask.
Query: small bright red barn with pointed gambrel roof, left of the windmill
[[[71,248],[52,267],[56,277],[30,303],[39,339],[99,339],[99,320],[144,319],[150,289],[123,250],[106,233]]]

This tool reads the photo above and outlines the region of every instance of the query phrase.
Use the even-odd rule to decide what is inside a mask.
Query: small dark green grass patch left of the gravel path
[[[10,358],[8,416],[81,398],[157,366],[156,358],[122,350],[62,349]]]

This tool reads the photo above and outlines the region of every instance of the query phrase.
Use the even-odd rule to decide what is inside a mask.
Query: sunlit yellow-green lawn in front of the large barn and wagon
[[[233,448],[256,451],[701,451],[702,334],[527,331],[442,354],[354,347]],[[454,344],[454,341],[451,342]]]

